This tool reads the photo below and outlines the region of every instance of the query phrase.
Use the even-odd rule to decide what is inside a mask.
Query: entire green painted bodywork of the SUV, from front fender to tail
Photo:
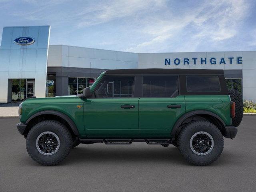
[[[94,82],[94,92],[105,72]],[[168,108],[168,105],[180,108]],[[77,107],[81,105],[82,107]],[[134,105],[134,108],[121,108]],[[66,114],[76,125],[81,138],[152,138],[170,137],[178,119],[192,111],[206,110],[231,125],[230,96],[180,95],[175,98],[79,98],[58,96],[33,98],[22,102],[20,122],[37,112],[54,110]]]

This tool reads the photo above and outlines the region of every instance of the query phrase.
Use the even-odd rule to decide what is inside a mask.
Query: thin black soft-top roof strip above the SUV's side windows
[[[213,69],[114,69],[107,70],[105,74],[211,74],[224,75],[223,70]]]

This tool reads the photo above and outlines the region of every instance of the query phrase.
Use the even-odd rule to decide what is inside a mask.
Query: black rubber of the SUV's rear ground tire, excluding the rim
[[[207,132],[214,141],[212,150],[205,155],[195,154],[190,147],[190,139],[197,132]],[[198,120],[188,123],[178,135],[178,149],[184,158],[197,166],[209,165],[222,154],[224,140],[220,130],[211,122]]]

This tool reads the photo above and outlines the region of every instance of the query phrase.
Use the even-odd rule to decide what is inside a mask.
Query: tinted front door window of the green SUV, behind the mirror
[[[96,98],[127,98],[132,97],[134,76],[104,76],[94,95]]]

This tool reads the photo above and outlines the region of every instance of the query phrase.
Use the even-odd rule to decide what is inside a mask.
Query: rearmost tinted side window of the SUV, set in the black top
[[[187,92],[220,92],[218,76],[186,76]]]

